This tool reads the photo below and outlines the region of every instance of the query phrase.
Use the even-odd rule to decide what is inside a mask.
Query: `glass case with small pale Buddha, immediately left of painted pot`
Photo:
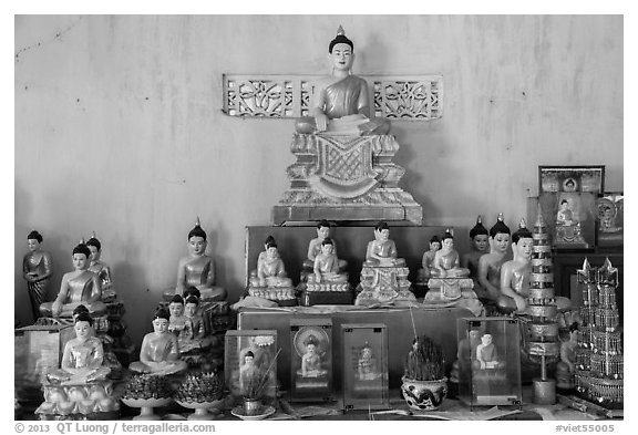
[[[343,408],[388,410],[388,328],[383,323],[344,323]]]

